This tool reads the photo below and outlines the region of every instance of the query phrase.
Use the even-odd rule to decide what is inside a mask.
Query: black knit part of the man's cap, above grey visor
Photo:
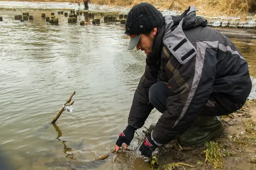
[[[131,8],[128,13],[125,34],[141,34],[151,31],[153,28],[160,26],[164,20],[163,14],[150,3],[139,3]]]

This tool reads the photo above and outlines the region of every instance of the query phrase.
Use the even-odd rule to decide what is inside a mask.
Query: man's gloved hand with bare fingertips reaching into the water
[[[123,143],[125,143],[124,145],[124,149],[127,149],[128,145],[130,145],[134,133],[135,133],[136,128],[130,126],[129,124],[127,125],[126,129],[124,129],[124,131],[122,131],[119,135],[119,138],[116,141],[116,146],[115,146],[115,150],[118,151],[119,148],[122,146]]]

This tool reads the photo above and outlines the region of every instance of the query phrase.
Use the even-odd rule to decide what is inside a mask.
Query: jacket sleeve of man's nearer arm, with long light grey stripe
[[[216,74],[217,50],[212,49],[207,54],[203,50],[197,47],[197,54],[182,64],[174,56],[169,56],[166,66],[171,79],[168,82],[167,110],[151,134],[157,145],[170,142],[188,129],[210,97]]]

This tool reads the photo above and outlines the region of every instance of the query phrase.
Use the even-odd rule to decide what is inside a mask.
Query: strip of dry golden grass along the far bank
[[[24,1],[24,0],[16,0]],[[25,1],[66,1],[80,2],[83,0],[25,0]],[[204,16],[241,16],[244,18],[249,12],[256,12],[256,0],[90,0],[100,5],[118,5],[132,7],[141,2],[148,2],[158,9],[172,9],[182,12],[189,5],[195,5],[199,15]],[[255,10],[255,11],[252,11]]]

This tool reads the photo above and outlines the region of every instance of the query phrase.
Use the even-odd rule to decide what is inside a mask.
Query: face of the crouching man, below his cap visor
[[[141,34],[140,40],[136,46],[137,50],[144,51],[147,56],[152,52],[153,41],[157,33],[157,28],[154,28],[148,35]]]

